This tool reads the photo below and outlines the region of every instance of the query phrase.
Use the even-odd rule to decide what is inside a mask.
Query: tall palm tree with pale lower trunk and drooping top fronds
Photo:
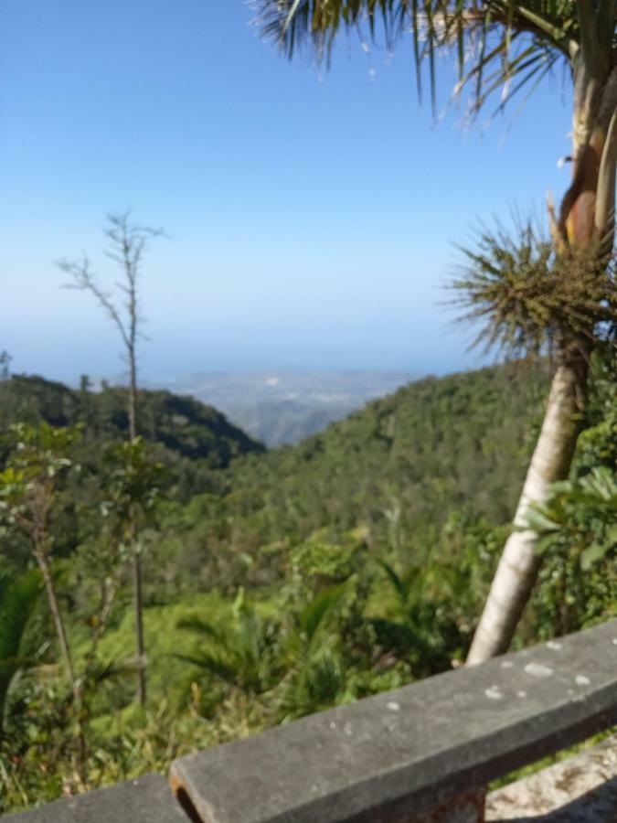
[[[479,111],[499,89],[503,90],[500,107],[505,105],[516,92],[535,88],[551,69],[564,63],[573,87],[572,182],[558,213],[548,204],[553,256],[549,254],[543,263],[536,252],[544,250],[538,245],[532,248],[533,262],[540,263],[540,273],[546,273],[550,264],[551,273],[568,276],[572,282],[573,268],[579,262],[588,268],[591,256],[598,265],[590,267],[594,275],[586,282],[595,284],[601,279],[597,269],[605,271],[614,233],[616,0],[258,0],[257,6],[261,32],[290,58],[297,48],[308,45],[318,59],[327,59],[339,32],[356,30],[362,36],[362,27],[375,37],[380,25],[390,48],[409,36],[419,91],[421,65],[429,65],[433,109],[438,51],[455,55],[459,71],[455,91],[470,91],[472,112]],[[491,248],[481,263],[494,262],[495,239],[488,238]],[[568,265],[553,266],[557,259],[566,260]],[[481,265],[482,274],[486,270],[483,272]],[[614,316],[614,281],[610,276],[607,280],[608,299],[598,301],[593,294],[590,302],[604,308],[608,303]],[[477,285],[472,283],[470,298],[475,294],[484,299],[484,310],[495,320],[495,311],[499,304],[504,307],[504,301],[486,299],[486,292]],[[578,296],[585,303],[580,290]],[[526,309],[529,306],[527,301]],[[590,354],[597,345],[595,330],[601,319],[593,315],[587,325],[569,326],[565,322],[558,329],[567,334],[551,341],[556,344],[557,369],[544,423],[516,508],[516,528],[505,544],[469,663],[505,651],[536,581],[538,537],[528,526],[528,516],[535,506],[546,502],[550,484],[568,476]],[[503,317],[497,317],[497,326],[500,320]],[[573,329],[576,334],[570,333]]]

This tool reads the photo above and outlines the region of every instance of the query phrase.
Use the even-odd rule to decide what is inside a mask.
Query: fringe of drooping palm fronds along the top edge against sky
[[[454,54],[459,74],[456,89],[461,91],[473,79],[471,108],[477,111],[495,81],[504,86],[505,99],[513,81],[529,81],[529,66],[522,59],[528,49],[542,57],[546,70],[559,58],[572,59],[581,36],[577,5],[584,4],[571,0],[255,0],[252,5],[261,35],[289,58],[308,47],[319,61],[329,62],[338,34],[359,32],[364,38],[363,27],[374,41],[380,30],[388,49],[410,37],[420,95],[421,69],[429,64],[433,110],[436,56]],[[594,31],[601,26],[600,11],[598,15]],[[609,18],[613,40],[614,4],[612,10],[603,9],[603,19]]]

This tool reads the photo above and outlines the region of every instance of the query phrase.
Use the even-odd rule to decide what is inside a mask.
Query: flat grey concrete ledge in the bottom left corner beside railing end
[[[66,797],[1,819],[2,823],[189,823],[161,775]]]

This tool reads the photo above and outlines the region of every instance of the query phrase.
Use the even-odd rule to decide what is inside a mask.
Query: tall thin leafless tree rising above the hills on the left
[[[78,261],[63,260],[59,269],[68,274],[66,288],[79,289],[93,294],[96,301],[112,318],[118,329],[124,348],[124,358],[129,369],[128,416],[129,440],[137,436],[137,342],[143,337],[141,327],[144,317],[139,305],[139,275],[144,254],[151,240],[164,236],[162,229],[153,229],[133,223],[130,211],[110,214],[105,236],[109,244],[105,254],[115,262],[122,273],[115,286],[120,294],[105,291],[92,271],[89,257],[84,254]],[[123,300],[122,300],[123,298]],[[145,647],[144,607],[142,602],[142,563],[139,552],[133,550],[133,610],[135,614],[135,638],[137,647],[137,698],[145,704]]]

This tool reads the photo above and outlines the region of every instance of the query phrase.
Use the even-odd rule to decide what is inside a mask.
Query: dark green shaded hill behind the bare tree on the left
[[[17,421],[54,426],[83,422],[90,437],[122,439],[128,433],[126,390],[71,390],[41,377],[15,375],[0,382],[0,429]],[[234,457],[264,450],[216,409],[164,390],[139,392],[137,431],[168,453],[209,468],[223,468]]]

